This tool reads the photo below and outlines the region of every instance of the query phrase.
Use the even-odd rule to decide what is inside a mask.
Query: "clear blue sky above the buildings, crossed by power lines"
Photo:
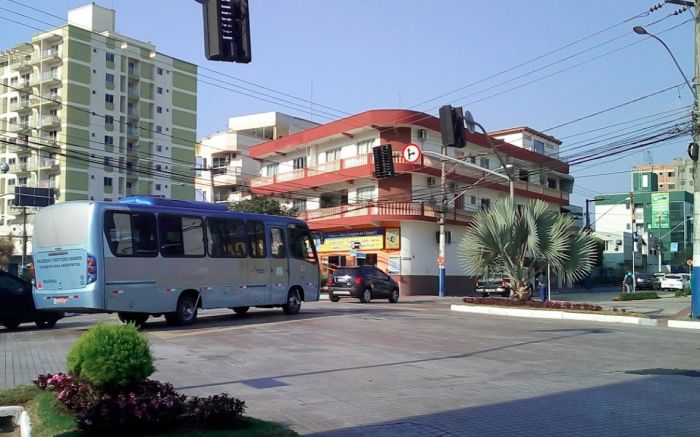
[[[47,29],[85,3],[0,0],[0,17]],[[96,3],[117,11],[117,32],[222,73],[200,69],[198,137],[224,130],[230,116],[255,112],[326,122],[377,108],[436,115],[440,105],[452,104],[471,111],[488,130],[527,125],[546,131],[564,142],[564,158],[581,159],[616,141],[634,145],[628,140],[681,126],[689,119],[682,108],[692,104],[683,85],[550,130],[683,83],[661,44],[636,35],[633,26],[662,38],[692,81],[692,16],[668,17],[678,9],[673,5],[643,16],[652,0],[250,0],[250,64],[205,59],[201,6],[194,0]],[[0,20],[0,47],[35,32]],[[573,165],[572,203],[629,190],[629,173],[601,174],[629,171],[644,163],[646,151],[654,163],[670,162],[685,156],[689,140]]]

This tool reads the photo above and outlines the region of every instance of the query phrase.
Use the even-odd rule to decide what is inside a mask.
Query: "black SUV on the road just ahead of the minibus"
[[[373,298],[399,301],[399,284],[374,266],[340,267],[328,276],[328,297],[338,302],[341,297],[354,297],[367,303]]]

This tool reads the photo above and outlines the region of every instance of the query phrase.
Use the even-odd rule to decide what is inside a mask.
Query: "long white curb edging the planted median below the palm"
[[[450,310],[461,313],[491,314],[510,317],[530,317],[536,319],[585,320],[591,322],[626,323],[630,325],[639,326],[659,326],[659,321],[655,319],[644,319],[642,317],[628,316],[609,316],[604,314],[569,313],[566,311],[538,311],[525,310],[519,308],[501,308],[454,304],[450,305]]]

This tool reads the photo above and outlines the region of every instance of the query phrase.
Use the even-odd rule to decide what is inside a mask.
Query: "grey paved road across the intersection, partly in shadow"
[[[449,311],[456,299],[305,304],[298,316],[207,311],[150,323],[154,377],[229,392],[302,434],[695,435],[697,332]],[[96,320],[0,332],[0,385],[64,368]],[[162,320],[162,319],[160,319]]]

